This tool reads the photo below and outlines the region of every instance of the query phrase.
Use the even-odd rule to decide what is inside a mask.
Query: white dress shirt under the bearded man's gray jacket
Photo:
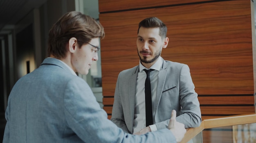
[[[155,125],[155,99],[157,92],[157,79],[158,73],[162,66],[162,57],[160,57],[157,62],[150,67],[150,69],[155,69],[150,72],[150,85],[151,85],[151,97],[152,97],[152,115],[153,115],[153,125],[150,125],[151,131],[156,131],[157,127]],[[139,73],[137,76],[137,86],[135,95],[135,112],[133,121],[133,133],[139,132],[141,129],[146,128],[146,108],[145,108],[145,80],[146,72],[144,67],[139,61]]]

